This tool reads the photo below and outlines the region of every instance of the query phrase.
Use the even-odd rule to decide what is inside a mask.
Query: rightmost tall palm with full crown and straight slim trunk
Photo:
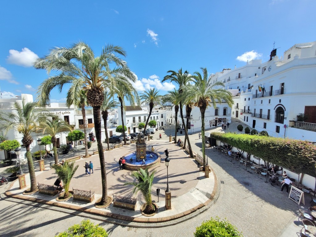
[[[192,95],[194,101],[194,106],[200,108],[201,112],[201,121],[202,121],[202,154],[203,154],[203,163],[205,170],[205,110],[208,106],[213,106],[216,108],[216,103],[221,104],[223,101],[228,104],[229,107],[233,106],[232,94],[224,89],[224,84],[222,82],[211,83],[210,78],[207,75],[207,69],[201,68],[203,76],[200,72],[194,73],[194,85],[186,85],[184,90],[187,94]],[[217,88],[216,87],[222,87]]]

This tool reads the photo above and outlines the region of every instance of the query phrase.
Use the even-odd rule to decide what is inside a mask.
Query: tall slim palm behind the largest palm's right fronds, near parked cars
[[[139,105],[140,99],[139,99],[136,89],[133,87],[133,85],[130,82],[117,83],[116,87],[113,87],[111,92],[117,94],[119,98],[119,103],[120,103],[120,108],[121,108],[121,119],[122,119],[122,126],[123,126],[123,138],[124,138],[124,144],[126,145],[126,137],[125,137],[125,130],[124,130],[125,125],[124,125],[124,118],[123,118],[124,111],[125,111],[124,97],[132,106]]]

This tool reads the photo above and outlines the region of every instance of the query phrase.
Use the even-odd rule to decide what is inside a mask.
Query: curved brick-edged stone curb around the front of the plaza
[[[114,213],[106,213],[101,210],[77,207],[77,206],[72,206],[72,205],[68,205],[64,203],[56,203],[52,201],[42,200],[39,198],[27,197],[27,196],[11,193],[10,191],[6,191],[4,194],[7,197],[20,199],[23,201],[29,201],[33,203],[39,203],[39,204],[44,204],[47,206],[53,206],[53,207],[58,207],[58,208],[63,208],[63,209],[68,209],[68,210],[74,210],[76,212],[79,212],[79,213],[72,213],[73,215],[76,215],[76,216],[85,216],[85,214],[88,214],[88,215],[90,214],[92,216],[89,215],[87,216],[88,218],[105,221],[109,223],[114,223],[114,224],[120,224],[127,227],[158,228],[158,227],[174,225],[174,224],[183,222],[185,220],[191,219],[199,215],[200,213],[204,212],[205,210],[207,210],[212,203],[216,202],[218,198],[219,182],[217,181],[216,174],[212,168],[211,168],[211,171],[214,175],[215,185],[214,185],[213,192],[210,194],[209,199],[205,203],[199,204],[191,208],[190,210],[186,210],[176,215],[167,216],[167,217],[159,217],[159,218],[139,218],[139,217],[134,218],[131,216],[124,216],[124,215],[119,215],[119,214],[114,214]],[[11,187],[13,186],[13,183],[14,182],[12,182],[12,184],[9,186],[9,189],[11,189]],[[23,204],[23,202],[21,203]],[[44,205],[41,205],[40,207],[46,208]],[[102,218],[100,219],[100,217],[103,217],[103,218],[106,217],[106,219],[102,219]],[[160,223],[160,224],[157,225],[153,223]]]

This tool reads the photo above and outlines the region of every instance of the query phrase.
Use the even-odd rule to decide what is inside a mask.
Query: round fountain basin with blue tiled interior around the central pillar
[[[150,158],[150,155],[153,157]],[[125,169],[128,170],[139,170],[140,168],[153,168],[160,164],[160,155],[153,151],[146,151],[145,163],[142,163],[142,160],[136,161],[136,152],[128,153],[123,156],[125,158]],[[132,158],[132,161],[130,159]]]

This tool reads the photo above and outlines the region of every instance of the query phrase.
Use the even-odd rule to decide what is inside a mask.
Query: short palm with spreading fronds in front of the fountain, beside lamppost
[[[143,197],[146,200],[146,213],[150,213],[154,210],[154,206],[151,202],[151,188],[153,186],[154,174],[156,171],[154,170],[149,174],[148,168],[140,169],[138,171],[133,171],[131,176],[136,178],[136,182],[127,182],[124,185],[134,185],[133,193],[136,194],[138,191],[141,191]]]

